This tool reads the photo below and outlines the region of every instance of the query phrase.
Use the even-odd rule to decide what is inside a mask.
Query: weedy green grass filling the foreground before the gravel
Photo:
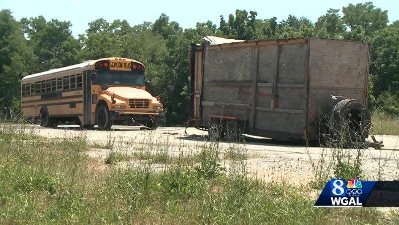
[[[114,144],[115,145],[115,144]],[[315,208],[316,190],[263,183],[245,164],[227,172],[218,143],[196,156],[163,155],[151,145],[133,155],[89,158],[84,137],[46,139],[0,125],[1,224],[396,224],[397,212]],[[112,146],[107,146],[112,148]],[[224,156],[245,161],[244,151]],[[129,167],[120,161],[135,160]],[[165,165],[152,170],[154,163]],[[313,193],[313,194],[312,194]]]

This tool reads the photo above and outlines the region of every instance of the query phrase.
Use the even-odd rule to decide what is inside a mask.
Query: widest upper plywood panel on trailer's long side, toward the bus
[[[206,49],[204,82],[251,81],[251,47]]]

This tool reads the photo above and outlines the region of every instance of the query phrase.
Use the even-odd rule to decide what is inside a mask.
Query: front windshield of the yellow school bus
[[[144,73],[131,71],[98,71],[97,85],[144,86]]]

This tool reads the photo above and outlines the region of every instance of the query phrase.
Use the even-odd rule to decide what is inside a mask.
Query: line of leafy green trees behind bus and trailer
[[[0,107],[20,110],[20,79],[28,74],[89,59],[126,57],[146,66],[153,95],[162,95],[167,125],[182,125],[190,114],[190,44],[206,35],[256,40],[318,37],[371,42],[368,104],[371,110],[399,115],[399,21],[388,25],[386,10],[371,2],[329,9],[315,23],[289,15],[259,19],[257,12],[236,10],[219,25],[211,21],[182,29],[165,14],[155,22],[131,26],[126,20],[97,19],[74,38],[71,23],[44,17],[17,21],[0,11]],[[173,91],[168,91],[173,85]]]

